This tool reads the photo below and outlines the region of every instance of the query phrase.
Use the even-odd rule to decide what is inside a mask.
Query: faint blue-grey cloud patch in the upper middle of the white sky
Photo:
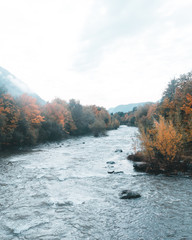
[[[107,14],[98,17],[103,3],[108,9]],[[84,27],[82,47],[74,68],[82,71],[95,67],[101,61],[106,46],[119,38],[140,34],[150,27],[156,21],[154,9],[158,5],[159,0],[147,6],[145,0],[95,1],[91,17]],[[89,45],[84,47],[84,41],[89,41]]]

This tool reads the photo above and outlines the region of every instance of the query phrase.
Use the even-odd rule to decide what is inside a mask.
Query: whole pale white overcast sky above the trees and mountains
[[[0,66],[49,101],[157,101],[192,70],[192,0],[0,0]]]

